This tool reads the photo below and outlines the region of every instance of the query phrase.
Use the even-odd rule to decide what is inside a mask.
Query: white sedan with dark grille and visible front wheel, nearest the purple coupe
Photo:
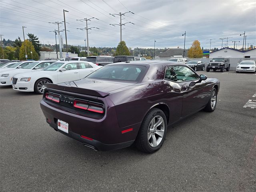
[[[56,62],[43,70],[22,73],[12,78],[12,88],[23,92],[43,94],[46,83],[63,83],[84,78],[100,66],[87,61]]]

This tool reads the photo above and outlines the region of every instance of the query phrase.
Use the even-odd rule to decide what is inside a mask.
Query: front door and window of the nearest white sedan
[[[75,81],[80,79],[80,72],[78,69],[78,64],[76,62],[68,63],[62,67],[62,69],[66,69],[66,71],[58,71],[58,83],[67,82],[67,81]]]

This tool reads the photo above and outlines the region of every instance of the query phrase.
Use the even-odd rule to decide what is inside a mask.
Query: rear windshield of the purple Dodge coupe
[[[113,65],[104,66],[86,78],[138,81],[146,70],[145,66]]]

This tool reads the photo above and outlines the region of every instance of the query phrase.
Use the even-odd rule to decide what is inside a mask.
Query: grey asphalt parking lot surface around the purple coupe
[[[48,126],[42,95],[1,87],[0,190],[256,191],[256,75],[198,74],[220,80],[216,110],[169,127],[154,154],[86,148]]]

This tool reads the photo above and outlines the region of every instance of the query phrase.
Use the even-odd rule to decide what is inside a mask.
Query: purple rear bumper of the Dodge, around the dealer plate
[[[114,107],[108,108],[108,114],[99,120],[81,116],[79,111],[72,114],[67,108],[56,108],[45,100],[41,100],[40,106],[46,122],[54,130],[94,150],[108,151],[128,147],[134,142],[140,128],[140,123],[120,128]],[[58,129],[58,120],[68,123],[68,133]]]

